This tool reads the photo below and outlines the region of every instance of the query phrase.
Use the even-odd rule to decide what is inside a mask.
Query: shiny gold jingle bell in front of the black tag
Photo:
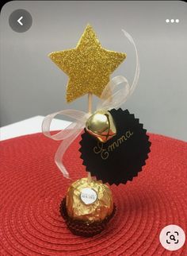
[[[109,111],[96,111],[86,121],[86,130],[100,142],[107,142],[116,135],[116,126]]]

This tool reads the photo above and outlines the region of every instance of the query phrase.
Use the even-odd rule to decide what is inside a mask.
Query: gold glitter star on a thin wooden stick
[[[76,48],[52,52],[49,56],[69,76],[67,102],[71,102],[86,93],[101,97],[109,76],[126,54],[101,48],[93,28],[87,25]]]

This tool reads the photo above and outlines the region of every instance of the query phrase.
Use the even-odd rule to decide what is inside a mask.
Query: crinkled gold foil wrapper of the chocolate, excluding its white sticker
[[[83,188],[92,188],[97,193],[97,200],[93,204],[84,204],[81,200]],[[74,219],[87,222],[101,221],[113,212],[113,195],[106,184],[99,180],[82,178],[74,181],[67,191],[67,214]]]

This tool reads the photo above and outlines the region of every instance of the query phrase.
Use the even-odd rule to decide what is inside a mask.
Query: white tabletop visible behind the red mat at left
[[[14,122],[8,126],[2,126],[0,128],[0,141],[26,134],[40,133],[43,120],[44,116],[37,115],[20,122]],[[52,120],[51,130],[62,130],[66,128],[70,123],[71,122],[68,121],[54,119]]]

